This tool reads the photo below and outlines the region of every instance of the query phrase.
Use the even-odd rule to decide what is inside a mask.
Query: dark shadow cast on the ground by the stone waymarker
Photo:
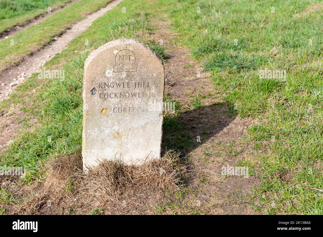
[[[214,103],[182,114],[166,114],[163,123],[163,152],[174,150],[181,159],[228,126],[237,116],[232,104]],[[162,154],[163,155],[163,154]]]

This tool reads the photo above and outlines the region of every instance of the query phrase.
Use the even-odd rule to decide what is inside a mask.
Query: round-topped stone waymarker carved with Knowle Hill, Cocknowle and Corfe
[[[159,158],[165,69],[132,39],[102,45],[85,61],[83,169],[104,159],[141,164]]]

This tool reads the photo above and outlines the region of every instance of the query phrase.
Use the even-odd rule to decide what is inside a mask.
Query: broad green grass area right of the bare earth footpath
[[[238,105],[241,117],[257,119],[250,139],[270,144],[274,138],[269,153],[255,157],[264,178],[255,208],[268,214],[323,214],[321,193],[308,189],[323,188],[323,13],[293,17],[318,3],[179,0],[168,8],[179,43],[202,61],[223,98]],[[269,54],[275,46],[279,51]],[[259,78],[265,68],[286,70],[286,81]],[[294,175],[291,183],[279,177],[284,170]]]

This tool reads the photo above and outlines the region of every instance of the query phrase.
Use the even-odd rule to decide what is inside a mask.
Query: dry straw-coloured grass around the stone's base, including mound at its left
[[[185,172],[178,154],[171,152],[143,165],[104,161],[88,174],[82,171],[81,155],[69,155],[49,165],[46,181],[19,209],[23,213],[66,213],[72,208],[77,214],[93,208],[110,213],[136,209],[142,200],[155,202],[157,196],[178,190]]]

